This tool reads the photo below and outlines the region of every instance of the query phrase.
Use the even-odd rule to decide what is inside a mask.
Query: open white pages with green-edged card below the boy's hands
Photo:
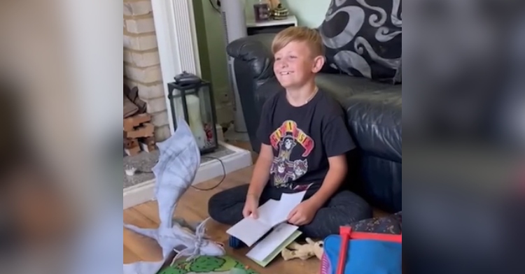
[[[246,256],[266,266],[284,247],[300,236],[298,227],[286,223],[288,214],[302,202],[306,192],[282,194],[279,201],[270,199],[258,208],[258,218],[251,216],[226,231],[252,247]],[[261,239],[262,238],[262,239]]]

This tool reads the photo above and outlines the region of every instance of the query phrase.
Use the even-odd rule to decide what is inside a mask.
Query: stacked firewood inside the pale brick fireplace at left
[[[138,89],[124,86],[124,152],[133,156],[141,151],[155,150],[155,127],[151,115],[146,113],[146,103],[138,96]]]

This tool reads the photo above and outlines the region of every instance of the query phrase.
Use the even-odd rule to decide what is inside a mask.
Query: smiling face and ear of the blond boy
[[[275,52],[274,59],[274,73],[286,89],[302,87],[324,64],[324,57],[314,56],[306,42],[297,41]]]

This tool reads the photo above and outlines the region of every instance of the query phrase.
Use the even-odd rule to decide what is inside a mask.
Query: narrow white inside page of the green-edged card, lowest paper
[[[279,224],[275,226],[274,230],[255,245],[246,257],[255,261],[264,261],[279,245],[281,245],[288,237],[290,237],[296,230],[297,226],[292,224]]]

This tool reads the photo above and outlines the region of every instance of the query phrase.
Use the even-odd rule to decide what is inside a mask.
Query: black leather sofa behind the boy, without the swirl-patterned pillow
[[[257,34],[233,41],[227,51],[234,58],[241,106],[255,152],[262,104],[283,91],[273,73],[270,45],[275,34]],[[348,125],[358,149],[348,155],[346,187],[372,206],[401,211],[401,85],[373,82],[324,69],[318,87],[330,92],[346,109]]]

